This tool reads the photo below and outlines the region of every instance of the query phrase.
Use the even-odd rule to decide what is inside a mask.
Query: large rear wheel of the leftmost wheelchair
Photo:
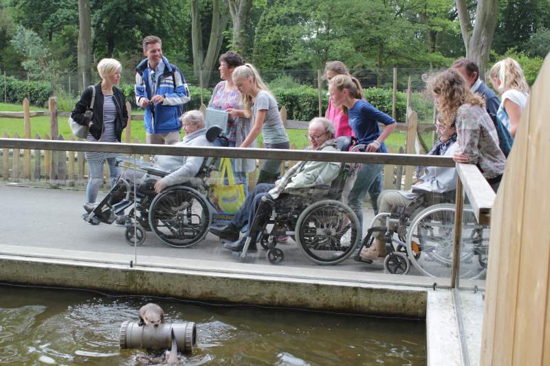
[[[149,209],[149,225],[155,236],[170,247],[191,247],[210,225],[204,198],[190,187],[178,186],[158,194]]]

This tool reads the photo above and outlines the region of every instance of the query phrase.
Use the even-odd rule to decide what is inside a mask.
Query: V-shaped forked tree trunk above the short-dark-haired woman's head
[[[226,0],[212,0],[212,23],[208,49],[203,48],[201,9],[199,0],[191,0],[191,40],[193,52],[193,71],[196,77],[202,78],[204,87],[210,80],[210,72],[219,56],[223,43],[223,32],[228,27],[229,14]]]

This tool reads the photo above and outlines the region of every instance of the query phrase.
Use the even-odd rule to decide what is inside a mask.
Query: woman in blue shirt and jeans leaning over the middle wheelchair
[[[349,125],[359,140],[366,145],[367,152],[388,152],[384,140],[395,130],[395,119],[378,111],[372,104],[363,100],[363,89],[359,80],[347,75],[338,75],[329,83],[329,93],[336,106],[348,114]],[[380,131],[378,122],[386,128]],[[377,176],[382,174],[384,165],[362,164],[353,188],[349,192],[348,205],[355,212],[360,223],[360,233],[363,226],[364,196]],[[384,256],[384,248],[377,248],[377,255]]]

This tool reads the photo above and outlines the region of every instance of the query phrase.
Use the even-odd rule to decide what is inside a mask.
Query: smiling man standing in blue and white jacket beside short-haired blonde
[[[147,58],[135,68],[135,102],[145,109],[147,144],[172,145],[179,141],[184,104],[190,100],[184,74],[162,56],[157,36],[143,38]]]

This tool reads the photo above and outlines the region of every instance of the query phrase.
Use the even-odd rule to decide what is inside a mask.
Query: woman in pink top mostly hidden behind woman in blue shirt
[[[342,61],[330,61],[325,65],[325,78],[327,82],[330,82],[332,78],[337,75],[347,75],[351,76],[349,70],[344,62]],[[355,136],[351,126],[349,126],[349,120],[347,113],[342,111],[342,107],[335,106],[332,102],[331,95],[329,94],[329,108],[325,113],[325,117],[332,122],[334,129],[336,130],[336,135],[334,138],[340,136]],[[371,187],[369,187],[369,196],[371,197],[371,205],[375,214],[378,213],[378,196],[382,192],[382,175],[378,174]]]

